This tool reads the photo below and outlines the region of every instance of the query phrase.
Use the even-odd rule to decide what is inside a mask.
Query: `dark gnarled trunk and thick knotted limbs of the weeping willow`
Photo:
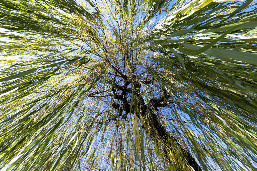
[[[167,129],[161,124],[159,121],[157,115],[155,114],[154,111],[157,111],[159,107],[165,107],[168,106],[170,103],[168,101],[168,98],[170,95],[168,92],[163,89],[162,90],[162,96],[159,98],[152,98],[150,99],[150,102],[148,105],[152,107],[153,110],[148,110],[150,111],[148,115],[146,115],[147,111],[147,105],[145,104],[143,97],[141,96],[141,83],[143,84],[150,84],[152,81],[151,80],[136,80],[134,79],[133,85],[134,89],[132,88],[127,88],[127,86],[130,84],[130,80],[127,79],[126,76],[122,76],[124,79],[124,85],[117,85],[115,83],[115,78],[114,78],[114,86],[112,88],[114,98],[117,99],[118,101],[121,102],[121,104],[118,104],[117,102],[112,104],[112,107],[117,111],[117,116],[114,116],[112,118],[107,119],[105,122],[110,122],[111,120],[116,121],[117,118],[120,116],[123,119],[127,119],[128,113],[130,111],[134,113],[134,109],[130,110],[130,100],[127,99],[126,95],[127,93],[131,93],[132,91],[134,94],[138,97],[138,102],[137,102],[137,108],[142,111],[142,113],[137,112],[137,117],[139,120],[143,121],[145,125],[143,125],[144,129],[147,128],[148,131],[146,131],[149,136],[152,138],[153,141],[156,141],[157,137],[158,139],[161,140],[161,143],[166,146],[167,149],[170,149],[172,152],[173,148],[171,145],[176,145],[178,149],[181,151],[181,155],[183,155],[183,158],[187,160],[187,164],[191,166],[192,168],[195,169],[195,171],[201,171],[201,167],[197,164],[195,158],[186,150],[184,149],[180,143],[177,141],[175,137],[173,137]],[[136,78],[136,76],[135,76]],[[119,94],[117,91],[122,91],[121,94]],[[166,99],[166,100],[165,100]],[[125,112],[125,113],[124,113]],[[123,114],[124,113],[124,114]],[[157,142],[155,142],[157,143]],[[171,158],[169,157],[169,154],[167,153],[167,150],[164,150],[164,156],[167,160],[170,160]]]

